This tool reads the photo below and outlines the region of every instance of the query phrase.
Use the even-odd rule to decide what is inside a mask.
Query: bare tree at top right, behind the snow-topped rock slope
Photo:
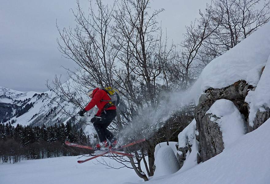
[[[233,48],[270,19],[270,1],[257,9],[261,0],[213,0],[211,22],[218,29],[206,41],[206,48],[219,56]]]

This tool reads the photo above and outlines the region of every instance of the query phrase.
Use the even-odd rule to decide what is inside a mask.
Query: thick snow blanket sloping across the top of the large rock
[[[239,80],[257,86],[270,55],[270,22],[203,69],[190,92],[195,102],[208,88],[225,88]]]

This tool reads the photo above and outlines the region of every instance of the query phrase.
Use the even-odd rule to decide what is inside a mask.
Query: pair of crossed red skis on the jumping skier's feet
[[[99,155],[96,155],[94,157],[91,157],[89,159],[86,159],[86,160],[78,160],[77,162],[78,163],[83,163],[83,162],[87,162],[89,160],[92,160],[92,159],[95,159],[97,157],[100,157],[102,155],[105,155],[107,153],[114,153],[114,154],[118,154],[118,155],[124,155],[124,156],[128,156],[128,157],[133,157],[134,155],[131,155],[131,154],[127,154],[127,153],[122,153],[122,152],[118,152],[118,150],[124,148],[124,147],[128,147],[128,146],[131,146],[131,145],[134,145],[134,144],[137,144],[137,143],[141,143],[143,141],[145,141],[146,139],[141,139],[141,140],[138,140],[138,141],[135,141],[133,143],[129,143],[129,144],[126,144],[122,147],[119,147],[119,148],[116,148],[116,149],[113,149],[113,150],[106,150],[104,151],[104,153],[102,154],[99,154]],[[84,145],[79,145],[79,144],[74,144],[74,143],[69,143],[68,141],[65,141],[65,144],[68,145],[68,146],[73,146],[73,147],[81,147],[81,148],[86,148],[86,149],[91,149],[91,150],[98,150],[98,151],[103,151],[103,150],[99,150],[99,149],[95,149],[93,147],[90,147],[90,146],[84,146]]]

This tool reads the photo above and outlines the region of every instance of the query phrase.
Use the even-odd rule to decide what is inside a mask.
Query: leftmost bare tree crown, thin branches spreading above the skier
[[[57,39],[59,50],[64,57],[74,61],[76,71],[67,69],[70,79],[61,83],[60,77],[52,81],[53,87],[47,82],[49,89],[54,91],[63,101],[71,102],[79,108],[87,104],[85,90],[91,87],[104,88],[114,86],[114,67],[118,50],[114,48],[114,37],[110,32],[113,20],[114,5],[109,7],[101,0],[95,0],[98,7],[94,10],[90,1],[89,14],[86,15],[77,1],[77,12],[73,11],[76,28],[60,29]],[[85,87],[85,88],[83,88]],[[59,104],[59,103],[58,103]],[[71,112],[63,111],[71,117]]]

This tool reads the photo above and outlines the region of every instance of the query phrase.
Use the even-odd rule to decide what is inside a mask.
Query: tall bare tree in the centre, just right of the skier
[[[115,14],[114,35],[118,41],[118,59],[122,64],[116,73],[120,91],[123,92],[128,107],[128,111],[123,111],[126,120],[140,116],[144,109],[155,111],[159,106],[160,92],[166,90],[169,84],[168,66],[175,46],[168,46],[167,38],[163,41],[162,29],[156,22],[156,16],[164,9],[154,10],[150,14],[149,8],[150,0],[122,0]],[[151,119],[150,115],[149,117]],[[147,122],[150,121],[138,121],[141,125],[146,122],[141,131],[147,130]],[[155,138],[150,138],[147,142],[149,176],[152,176],[156,141]],[[144,150],[141,151],[143,152]],[[136,154],[135,156],[137,158]],[[139,176],[145,179],[145,175]]]

